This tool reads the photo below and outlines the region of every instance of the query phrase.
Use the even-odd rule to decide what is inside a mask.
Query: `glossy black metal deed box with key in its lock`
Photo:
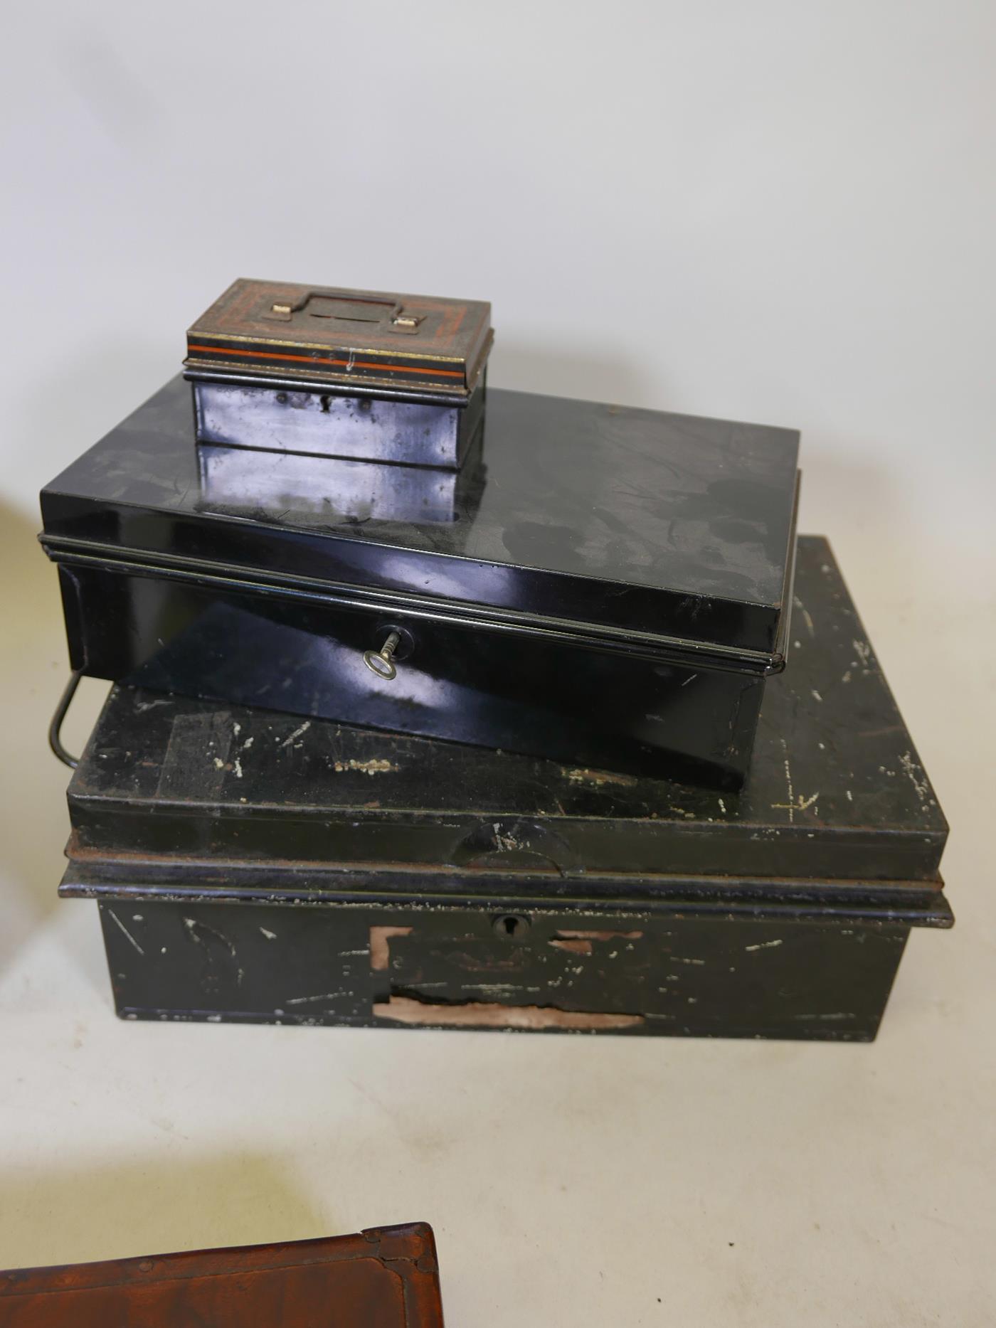
[[[212,446],[178,377],[44,490],[41,538],[92,676],[734,788],[785,664],[797,453],[493,389],[459,469]]]

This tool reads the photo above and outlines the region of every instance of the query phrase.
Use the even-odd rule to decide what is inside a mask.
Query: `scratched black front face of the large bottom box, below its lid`
[[[846,911],[776,920],[539,904],[530,916],[521,942],[503,942],[479,906],[101,902],[122,1017],[268,1024],[394,1027],[374,1005],[402,996],[643,1016],[623,1036],[867,1041],[910,931]],[[371,967],[378,926],[412,928],[390,939],[386,971]],[[564,928],[619,935],[584,955],[555,944]]]

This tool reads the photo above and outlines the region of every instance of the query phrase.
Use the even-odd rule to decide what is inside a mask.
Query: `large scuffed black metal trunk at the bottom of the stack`
[[[863,1041],[947,825],[826,540],[740,791],[117,687],[62,895],[127,1019]]]

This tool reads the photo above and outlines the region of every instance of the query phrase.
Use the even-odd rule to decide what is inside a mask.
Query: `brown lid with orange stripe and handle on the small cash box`
[[[239,278],[187,332],[183,363],[189,377],[465,398],[493,339],[481,300]]]

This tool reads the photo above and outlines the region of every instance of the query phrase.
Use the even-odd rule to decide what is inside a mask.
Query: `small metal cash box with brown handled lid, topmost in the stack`
[[[187,332],[201,442],[457,467],[491,305],[238,280]]]

